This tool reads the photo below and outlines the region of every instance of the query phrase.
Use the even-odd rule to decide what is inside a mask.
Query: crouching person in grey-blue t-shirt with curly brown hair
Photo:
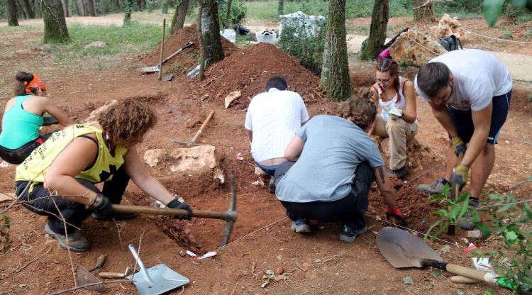
[[[296,162],[284,162],[275,172],[276,195],[298,233],[310,232],[311,219],[341,221],[340,240],[354,242],[367,229],[367,195],[375,181],[387,215],[402,218],[379,149],[366,134],[377,112],[372,94],[362,96],[340,104],[338,116],[311,118],[284,152]]]

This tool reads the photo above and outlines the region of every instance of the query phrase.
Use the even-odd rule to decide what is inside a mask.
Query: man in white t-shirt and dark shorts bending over
[[[419,96],[431,105],[452,143],[445,178],[420,185],[418,189],[428,194],[442,194],[453,167],[456,167],[457,183],[462,189],[471,169],[469,204],[477,208],[495,161],[494,145],[508,115],[512,88],[508,69],[482,50],[455,50],[421,67],[414,86]],[[462,152],[463,160],[458,163],[457,156]],[[471,217],[468,214],[461,218],[460,227],[473,228]]]

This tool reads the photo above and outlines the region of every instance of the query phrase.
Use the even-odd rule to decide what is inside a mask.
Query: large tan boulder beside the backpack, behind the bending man
[[[399,63],[423,66],[447,50],[432,37],[411,29],[399,35],[389,52]]]

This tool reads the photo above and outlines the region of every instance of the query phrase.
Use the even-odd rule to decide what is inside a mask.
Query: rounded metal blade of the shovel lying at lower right
[[[425,267],[423,261],[442,258],[421,238],[399,228],[382,228],[377,234],[377,247],[392,267]]]

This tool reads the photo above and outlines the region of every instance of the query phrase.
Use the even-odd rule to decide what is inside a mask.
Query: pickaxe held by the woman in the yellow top
[[[231,201],[227,211],[206,211],[206,210],[193,210],[192,217],[199,218],[215,218],[223,219],[227,221],[226,231],[223,233],[223,239],[219,247],[227,245],[229,238],[231,237],[231,232],[233,231],[233,226],[236,221],[236,188],[235,188],[235,177],[231,176]],[[139,213],[139,214],[148,214],[148,215],[170,215],[170,216],[179,216],[182,214],[187,214],[187,211],[184,209],[174,209],[174,208],[155,208],[150,206],[133,206],[133,205],[118,205],[113,204],[113,210],[117,213]]]

